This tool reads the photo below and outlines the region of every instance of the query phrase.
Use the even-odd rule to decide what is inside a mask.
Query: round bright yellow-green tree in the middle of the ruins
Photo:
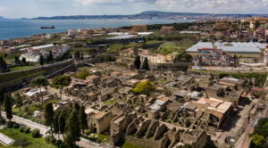
[[[155,84],[150,81],[139,82],[133,89],[133,92],[138,94],[149,95],[155,89]]]

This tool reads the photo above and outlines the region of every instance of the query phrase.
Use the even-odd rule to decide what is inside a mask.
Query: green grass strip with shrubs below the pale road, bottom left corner
[[[53,144],[46,144],[44,138],[42,137],[33,138],[30,134],[21,133],[19,129],[4,127],[3,129],[0,130],[0,132],[3,133],[5,136],[9,136],[13,140],[16,139],[27,140],[30,144],[26,146],[26,148],[56,148],[56,146],[54,146]],[[0,147],[4,148],[5,146],[3,144],[0,144]],[[7,148],[15,148],[15,147],[17,146],[11,144]]]

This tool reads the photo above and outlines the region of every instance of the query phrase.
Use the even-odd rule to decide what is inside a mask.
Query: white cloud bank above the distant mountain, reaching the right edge
[[[74,0],[83,5],[154,4],[161,10],[174,12],[267,12],[268,0]],[[149,7],[149,6],[148,6]],[[148,8],[148,10],[150,10]]]

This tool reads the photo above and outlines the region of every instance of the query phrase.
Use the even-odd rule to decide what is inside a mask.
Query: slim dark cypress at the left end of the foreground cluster
[[[45,124],[46,126],[50,126],[51,136],[53,136],[52,127],[53,127],[54,109],[52,103],[46,104],[44,117],[45,117]]]

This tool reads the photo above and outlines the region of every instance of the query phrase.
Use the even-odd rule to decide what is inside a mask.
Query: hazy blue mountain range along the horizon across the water
[[[212,18],[247,18],[253,16],[268,17],[266,14],[214,14],[195,12],[157,12],[147,11],[132,15],[73,15],[38,17],[32,20],[85,20],[85,19],[212,19]]]

